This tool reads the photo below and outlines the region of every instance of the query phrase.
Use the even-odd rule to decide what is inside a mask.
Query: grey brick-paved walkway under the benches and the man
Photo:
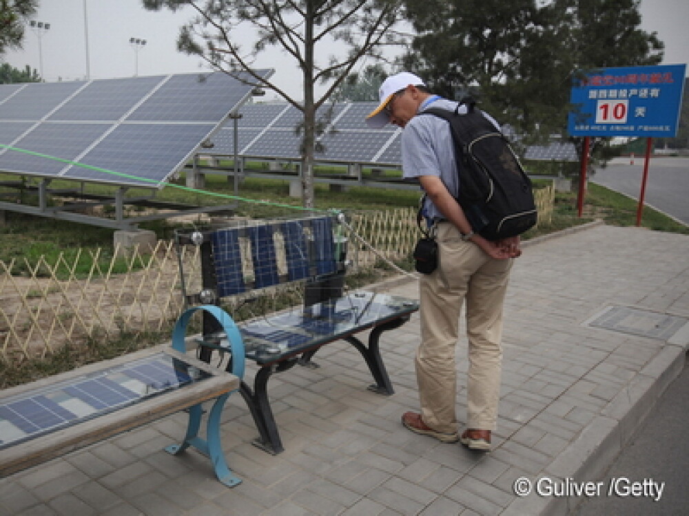
[[[364,388],[369,372],[345,343],[316,354],[320,369],[271,379],[280,455],[251,446],[256,429],[232,396],[223,444],[244,481],[236,488],[216,482],[196,452],[162,451],[183,435],[185,417],[176,415],[0,480],[0,514],[564,514],[582,500],[566,479],[595,482],[683,366],[688,257],[689,237],[638,228],[594,226],[530,243],[506,301],[500,421],[489,454],[400,424],[402,412],[418,408],[415,316],[382,339],[394,396]],[[417,295],[413,281],[381,290]],[[617,329],[593,327],[594,319]],[[466,344],[459,347],[463,385]],[[463,418],[463,390],[458,400]],[[540,478],[541,491],[559,486],[570,495],[515,495],[515,482],[535,488]],[[666,490],[686,488],[661,480]]]

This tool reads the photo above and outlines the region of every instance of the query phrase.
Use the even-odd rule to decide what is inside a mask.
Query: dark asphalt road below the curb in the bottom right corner
[[[670,384],[632,442],[601,479],[605,489],[584,498],[576,516],[683,516],[689,514],[689,367]],[[627,482],[627,480],[629,482]],[[610,482],[620,495],[607,495]],[[631,489],[636,482],[637,493]],[[651,482],[663,488],[653,491]],[[644,484],[647,486],[644,488]],[[646,493],[644,493],[646,491]],[[652,492],[653,491],[653,492]],[[656,501],[657,499],[657,501]]]

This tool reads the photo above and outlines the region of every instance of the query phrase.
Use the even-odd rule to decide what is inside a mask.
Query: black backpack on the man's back
[[[474,109],[471,99],[462,100],[466,114],[431,108],[431,114],[447,120],[455,143],[459,174],[457,202],[475,233],[499,240],[524,233],[537,222],[531,180],[507,139]]]

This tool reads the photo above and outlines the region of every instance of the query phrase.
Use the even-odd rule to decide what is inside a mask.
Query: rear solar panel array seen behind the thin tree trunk
[[[377,103],[338,103],[322,106],[316,113],[325,132],[319,138],[322,150],[316,159],[324,161],[400,164],[401,129],[387,125],[369,129],[364,118]],[[296,160],[301,156],[299,126],[302,111],[287,104],[245,105],[238,122],[238,155]],[[212,138],[214,147],[204,154],[234,154],[234,122]]]

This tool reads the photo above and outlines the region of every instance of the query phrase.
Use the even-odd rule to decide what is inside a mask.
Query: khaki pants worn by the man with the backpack
[[[502,305],[512,259],[489,257],[444,222],[438,225],[438,269],[420,281],[421,345],[416,376],[423,421],[439,432],[457,431],[455,345],[466,299],[469,338],[468,428],[495,430],[502,371]]]

